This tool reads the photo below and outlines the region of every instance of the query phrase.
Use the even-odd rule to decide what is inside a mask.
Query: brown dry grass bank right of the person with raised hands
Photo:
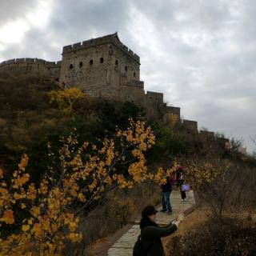
[[[209,208],[190,214],[170,237],[163,239],[166,256],[256,255],[256,214],[223,214],[217,219]]]

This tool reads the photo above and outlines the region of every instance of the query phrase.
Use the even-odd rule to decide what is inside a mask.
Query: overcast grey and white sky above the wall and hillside
[[[198,127],[256,135],[256,1],[1,0],[0,62],[61,59],[62,46],[118,31],[145,90]],[[256,146],[255,146],[256,147]]]

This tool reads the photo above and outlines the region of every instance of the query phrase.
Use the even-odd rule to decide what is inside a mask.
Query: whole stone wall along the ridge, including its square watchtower
[[[167,106],[162,93],[145,92],[144,82],[140,80],[140,58],[119,40],[117,33],[64,46],[62,60],[58,62],[40,58],[4,61],[0,63],[0,72],[51,78],[66,88],[77,86],[91,98],[134,102],[144,107],[149,117],[161,113],[164,122],[175,118],[198,131],[198,122],[182,120],[180,108]],[[207,130],[201,130],[200,134],[214,137]],[[224,138],[223,142],[229,140]]]

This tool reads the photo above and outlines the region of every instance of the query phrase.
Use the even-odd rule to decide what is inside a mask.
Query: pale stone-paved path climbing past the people
[[[165,214],[159,212],[157,214],[156,222],[159,226],[166,226],[170,222],[174,221],[178,214],[178,210],[182,209],[184,212],[189,210],[194,205],[194,198],[189,198],[186,202],[182,202],[180,192],[178,190],[172,191],[170,195],[170,202],[173,209],[173,214]],[[161,210],[162,207],[158,207]],[[131,256],[138,235],[141,233],[139,229],[139,220],[134,222],[134,226],[123,234],[121,238],[108,250],[107,256]]]

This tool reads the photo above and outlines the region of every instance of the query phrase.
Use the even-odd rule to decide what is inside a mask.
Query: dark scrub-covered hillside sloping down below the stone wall
[[[2,237],[10,238],[8,234],[21,229],[26,240],[31,226],[34,233],[29,234],[39,239],[41,223],[46,229],[43,239],[49,241],[37,242],[47,250],[62,242],[58,250],[75,247],[79,254],[138,216],[142,206],[158,204],[158,186],[166,177],[163,170],[172,166],[174,171],[177,161],[185,167],[187,181],[202,203],[211,207],[212,216],[222,218],[242,210],[251,217],[256,162],[238,152],[240,142],[231,139],[227,149],[222,134],[198,133],[175,118],[168,122],[161,116],[146,118],[145,110],[133,102],[107,102],[85,94],[67,112],[63,106],[69,102],[51,100],[50,95],[61,93],[54,82],[1,74],[0,193],[4,199],[0,206],[5,202],[10,207],[0,218],[6,222]],[[120,152],[125,152],[122,158]],[[16,226],[14,212],[21,222]],[[54,222],[51,229],[48,221]],[[75,233],[78,222],[81,232]],[[28,250],[36,244],[31,246]]]

